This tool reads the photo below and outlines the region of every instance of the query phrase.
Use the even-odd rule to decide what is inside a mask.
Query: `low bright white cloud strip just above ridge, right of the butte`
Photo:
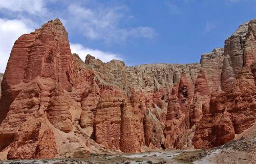
[[[122,60],[119,54],[83,47],[78,43],[70,43],[70,49],[72,53],[77,53],[83,61],[86,59],[87,54],[91,54],[95,58],[100,59],[102,62],[109,62],[112,59]]]

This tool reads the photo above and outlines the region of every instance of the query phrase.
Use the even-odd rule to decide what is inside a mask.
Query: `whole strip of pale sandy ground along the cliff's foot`
[[[229,147],[222,147],[204,150],[172,150],[115,155],[80,154],[79,158],[72,157],[59,159],[4,160],[0,161],[0,163],[256,163],[256,160],[252,159],[252,155],[253,154],[250,154],[246,151],[243,152],[240,150],[233,150]]]

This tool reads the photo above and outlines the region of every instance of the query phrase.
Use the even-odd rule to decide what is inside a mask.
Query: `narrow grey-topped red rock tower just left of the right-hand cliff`
[[[193,103],[190,106],[190,127],[209,112],[211,93],[221,90],[223,48],[216,48],[201,57],[201,71],[195,84]]]

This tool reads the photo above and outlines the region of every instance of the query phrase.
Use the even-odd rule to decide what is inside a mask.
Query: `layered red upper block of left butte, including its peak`
[[[12,48],[5,82],[16,85],[22,81],[27,83],[36,76],[51,77],[70,90],[72,85],[66,74],[71,67],[67,35],[60,20],[55,19],[42,25],[40,30],[21,36]]]

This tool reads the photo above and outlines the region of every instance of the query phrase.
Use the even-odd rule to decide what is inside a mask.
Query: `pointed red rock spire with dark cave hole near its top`
[[[164,148],[184,149],[191,147],[189,106],[194,96],[195,84],[190,74],[182,73],[180,83],[173,88],[168,102]]]

